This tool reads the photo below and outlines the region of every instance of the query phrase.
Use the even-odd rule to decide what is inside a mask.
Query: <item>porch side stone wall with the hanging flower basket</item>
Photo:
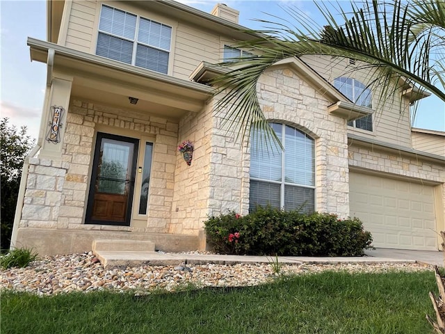
[[[172,218],[168,232],[197,235],[209,206],[209,173],[211,159],[212,105],[201,113],[188,113],[179,122],[179,136],[175,143],[175,188]],[[177,146],[183,141],[193,143],[191,166],[186,164]]]

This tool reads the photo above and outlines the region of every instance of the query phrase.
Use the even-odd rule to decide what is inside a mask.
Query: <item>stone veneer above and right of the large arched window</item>
[[[290,69],[263,74],[257,86],[266,117],[284,122],[315,140],[316,210],[349,215],[348,138],[346,120],[332,116],[332,104]]]

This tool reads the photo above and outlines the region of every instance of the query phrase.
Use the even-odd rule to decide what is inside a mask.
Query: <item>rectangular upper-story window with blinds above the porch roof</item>
[[[102,5],[98,56],[167,74],[172,27]]]

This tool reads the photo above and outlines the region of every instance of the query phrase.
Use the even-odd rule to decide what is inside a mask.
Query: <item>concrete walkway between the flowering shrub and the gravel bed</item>
[[[423,263],[433,264],[442,267],[444,265],[444,254],[439,251],[423,250],[401,250],[378,248],[366,250],[364,257],[307,257],[307,256],[280,256],[279,262],[289,264],[299,263],[357,263],[357,262],[391,262],[391,263]],[[182,262],[187,264],[236,264],[236,263],[268,263],[275,261],[275,257],[252,256],[252,255],[197,255],[197,254],[176,254],[159,252],[134,252],[134,251],[96,251],[104,267],[131,266],[136,267],[141,264],[150,265],[177,265]]]

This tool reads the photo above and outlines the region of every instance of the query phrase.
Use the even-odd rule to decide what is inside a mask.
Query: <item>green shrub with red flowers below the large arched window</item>
[[[210,216],[204,230],[209,246],[223,254],[361,256],[372,241],[358,218],[273,207],[257,207],[247,216]]]

